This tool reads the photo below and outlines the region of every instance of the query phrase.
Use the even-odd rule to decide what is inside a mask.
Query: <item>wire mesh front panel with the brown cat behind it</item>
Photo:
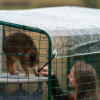
[[[48,78],[38,76],[37,72],[48,61],[47,36],[10,26],[2,26],[0,33],[3,34],[0,100],[48,99],[48,86],[42,84]]]

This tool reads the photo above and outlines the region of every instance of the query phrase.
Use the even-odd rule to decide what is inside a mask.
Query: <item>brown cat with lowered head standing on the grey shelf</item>
[[[13,33],[4,38],[3,51],[10,74],[18,74],[14,63],[18,59],[29,76],[28,68],[34,68],[39,63],[37,48],[30,36],[22,32]],[[35,70],[33,70],[35,74]]]

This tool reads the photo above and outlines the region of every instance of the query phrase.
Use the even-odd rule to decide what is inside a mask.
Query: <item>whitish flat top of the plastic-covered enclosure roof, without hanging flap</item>
[[[0,10],[1,21],[36,27],[46,31],[100,28],[99,18],[100,10],[98,9],[73,6]]]

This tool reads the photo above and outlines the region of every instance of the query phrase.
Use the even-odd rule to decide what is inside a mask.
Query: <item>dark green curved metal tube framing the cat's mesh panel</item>
[[[5,21],[0,21],[0,25],[5,25],[5,26],[10,26],[10,27],[14,27],[14,28],[20,28],[20,29],[23,29],[23,30],[28,30],[28,31],[31,31],[31,32],[38,32],[38,33],[42,33],[42,34],[45,34],[48,38],[48,59],[51,58],[51,54],[52,54],[52,42],[51,42],[51,38],[49,36],[49,34],[42,30],[42,29],[39,29],[39,28],[35,28],[35,27],[30,27],[30,26],[24,26],[24,25],[19,25],[19,24],[15,24],[15,23],[10,23],[10,22],[5,22]],[[48,65],[49,67],[49,76],[48,76],[48,100],[51,100],[51,62],[49,63]]]

